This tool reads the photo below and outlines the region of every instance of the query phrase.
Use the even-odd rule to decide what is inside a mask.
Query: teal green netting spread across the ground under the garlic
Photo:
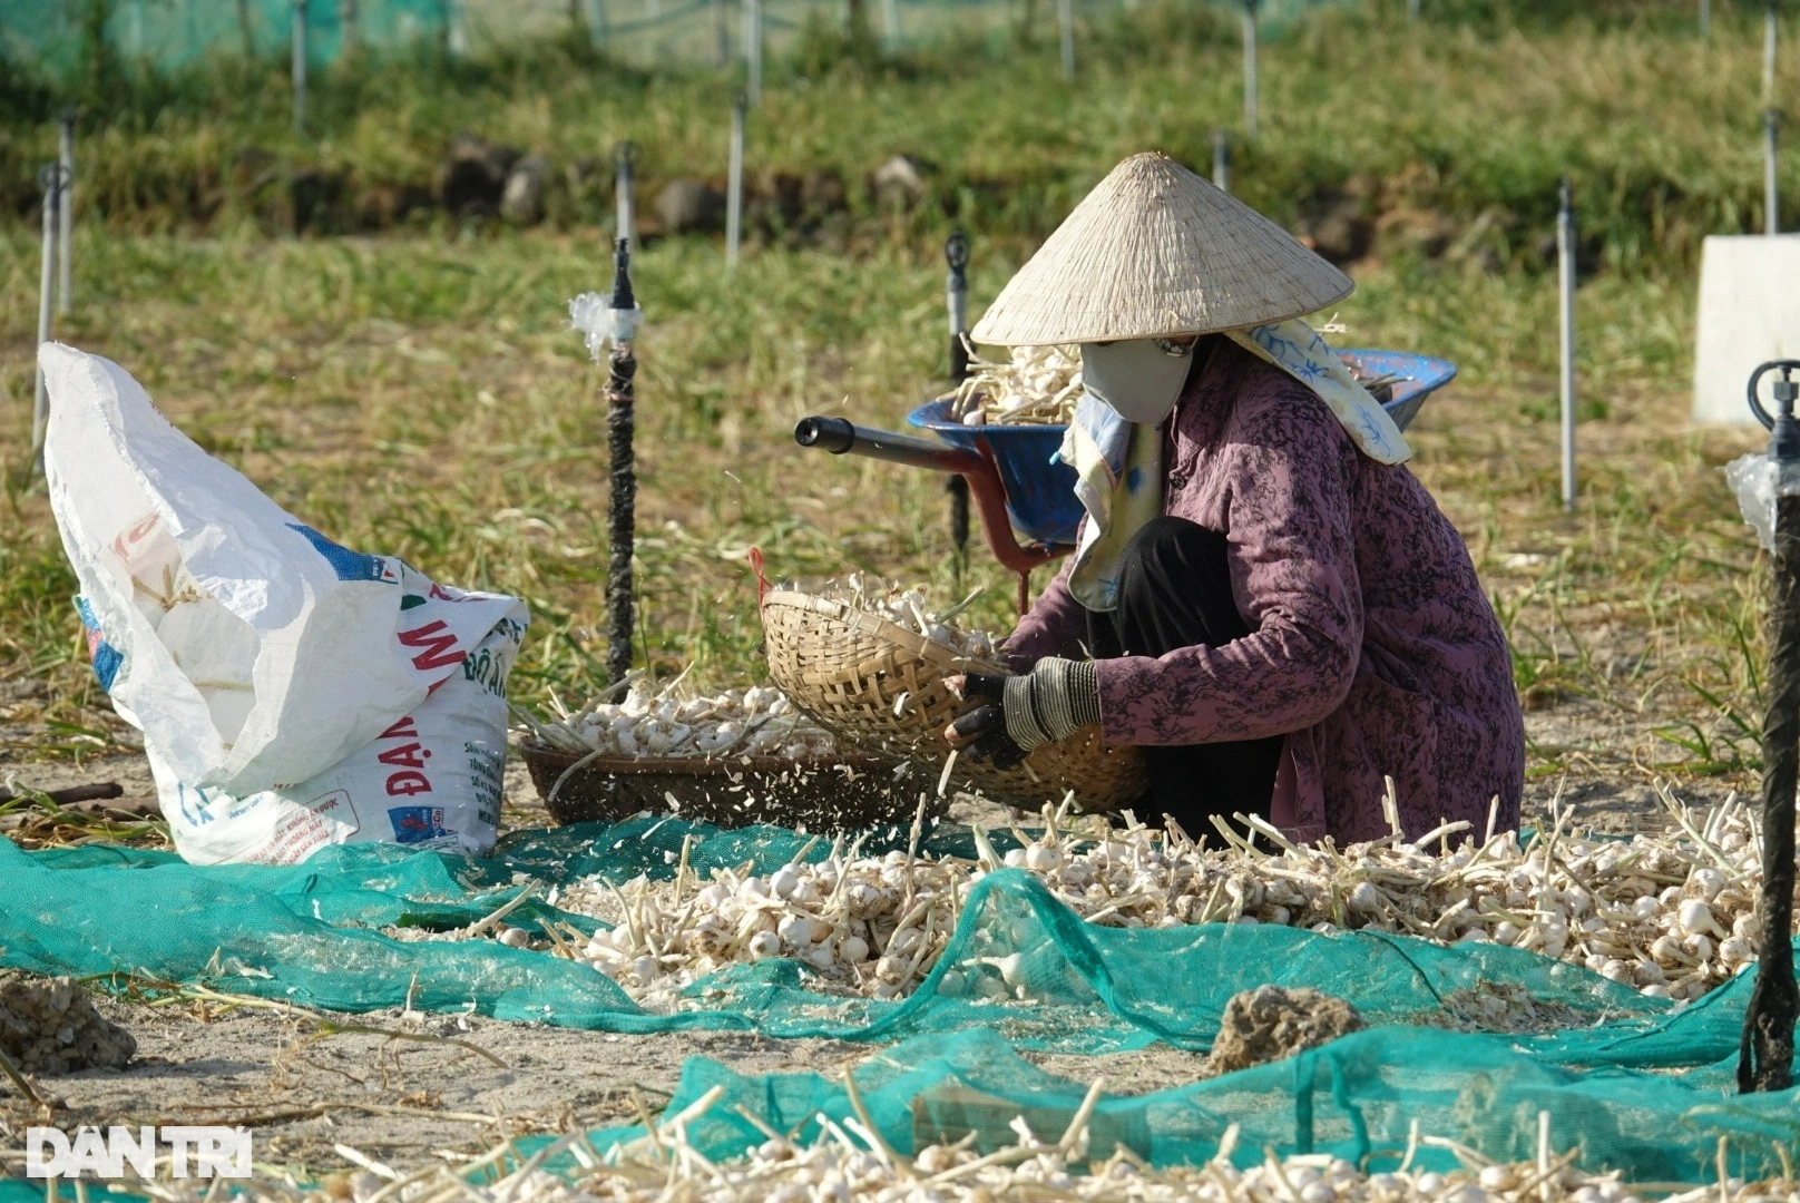
[[[1154,1041],[1204,1050],[1231,994],[1262,983],[1310,985],[1352,1001],[1379,1027],[1271,1066],[1109,1099],[1096,1127],[1102,1145],[1118,1140],[1156,1163],[1204,1160],[1235,1122],[1246,1160],[1260,1160],[1265,1145],[1355,1160],[1402,1147],[1417,1118],[1424,1131],[1489,1156],[1526,1158],[1535,1153],[1537,1115],[1548,1111],[1557,1144],[1579,1145],[1586,1167],[1624,1169],[1638,1181],[1703,1181],[1721,1136],[1730,1138],[1733,1172],[1750,1178],[1778,1172],[1778,1147],[1800,1144],[1793,1091],[1733,1093],[1748,976],[1674,1010],[1584,969],[1498,945],[1228,924],[1096,927],[1021,870],[974,888],[940,969],[893,1003],[810,989],[810,971],[772,960],[695,983],[691,1010],[650,1014],[599,972],[545,953],[493,942],[409,944],[380,931],[466,924],[526,879],[664,875],[671,872],[664,854],[677,852],[684,836],[697,839],[689,863],[702,872],[745,861],[767,872],[806,841],[781,828],[724,832],[639,818],[517,834],[488,861],[356,845],[295,868],[200,868],[169,854],[106,846],[25,854],[0,841],[0,965],[205,980],[335,1010],[398,1007],[410,989],[421,1010],[473,1009],[571,1028],[754,1028],[891,1045],[859,1070],[859,1084],[900,1149],[954,1129],[970,1108],[981,1109],[979,1100],[999,1100],[1003,1111],[1017,1109],[1044,1129],[1058,1117],[1066,1122],[1085,1082],[1044,1073],[1021,1050],[1105,1054]],[[905,834],[880,832],[866,848],[884,839],[904,846]],[[967,832],[954,828],[927,846],[972,852]],[[821,843],[808,855],[824,854]],[[515,915],[533,911],[560,915],[544,902]],[[995,972],[992,962],[1008,956],[1021,958],[1024,998],[979,1001],[938,989],[950,965]],[[1415,1027],[1440,1012],[1447,994],[1494,981],[1517,983],[1580,1019],[1543,1036]],[[745,1079],[704,1059],[686,1066],[671,1106],[713,1084],[778,1129],[805,1131],[819,1111],[848,1113],[841,1088],[821,1077]],[[596,1140],[605,1147],[623,1135],[628,1129]],[[689,1138],[709,1156],[761,1140],[729,1108],[691,1126]]]

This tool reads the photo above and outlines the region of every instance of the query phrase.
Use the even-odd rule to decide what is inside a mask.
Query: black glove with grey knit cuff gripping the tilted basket
[[[1033,747],[1100,722],[1100,679],[1093,661],[1046,656],[1021,677],[968,674],[963,701],[986,702],[950,724],[974,740],[970,755],[1010,769]]]

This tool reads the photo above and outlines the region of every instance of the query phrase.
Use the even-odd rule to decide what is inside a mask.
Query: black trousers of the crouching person
[[[1231,600],[1226,537],[1175,517],[1148,522],[1125,546],[1118,609],[1087,612],[1094,659],[1222,647],[1247,634]],[[1211,834],[1211,814],[1269,818],[1283,738],[1145,747],[1150,792],[1138,816],[1159,825],[1170,814],[1193,837]]]

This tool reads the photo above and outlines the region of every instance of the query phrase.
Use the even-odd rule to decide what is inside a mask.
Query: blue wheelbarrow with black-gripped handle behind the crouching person
[[[1375,400],[1402,430],[1426,398],[1456,378],[1456,366],[1429,355],[1402,351],[1339,351],[1359,378],[1384,380]],[[857,454],[968,481],[981,529],[994,558],[1019,574],[1019,612],[1030,600],[1030,573],[1075,549],[1082,502],[1075,497],[1075,468],[1057,459],[1062,425],[965,427],[950,416],[950,398],[940,396],[907,414],[914,427],[936,438],[859,427],[846,418],[803,418],[794,441],[835,456]]]

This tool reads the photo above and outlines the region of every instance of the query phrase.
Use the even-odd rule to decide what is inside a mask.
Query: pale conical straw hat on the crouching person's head
[[[976,322],[976,342],[1044,346],[1242,330],[1323,310],[1355,285],[1168,155],[1132,155]]]

